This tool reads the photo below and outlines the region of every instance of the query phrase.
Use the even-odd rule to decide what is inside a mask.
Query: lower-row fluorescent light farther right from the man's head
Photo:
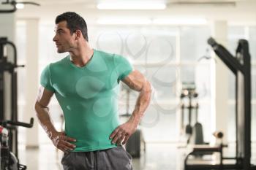
[[[159,25],[204,25],[207,23],[203,18],[157,18],[154,24]]]

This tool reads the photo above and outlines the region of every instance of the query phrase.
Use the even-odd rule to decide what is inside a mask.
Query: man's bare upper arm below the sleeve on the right
[[[129,88],[137,91],[142,90],[147,83],[146,77],[144,77],[138,70],[132,71],[121,81],[128,85]]]

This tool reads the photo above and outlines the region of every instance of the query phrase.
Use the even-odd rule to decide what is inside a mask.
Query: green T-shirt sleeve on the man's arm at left
[[[53,85],[51,83],[50,77],[50,65],[46,66],[45,69],[42,70],[41,77],[40,77],[40,84],[50,91],[55,91]]]

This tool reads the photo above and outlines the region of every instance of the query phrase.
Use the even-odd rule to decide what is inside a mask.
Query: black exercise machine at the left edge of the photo
[[[7,55],[7,47],[12,48],[13,58],[12,61],[10,55]],[[9,52],[9,51],[8,51]],[[16,126],[23,126],[31,128],[33,125],[33,118],[30,123],[18,122],[18,96],[17,96],[17,72],[16,68],[24,67],[23,65],[17,65],[17,52],[15,45],[8,41],[5,37],[0,37],[0,125],[2,129],[5,129],[4,134],[1,135],[1,161],[6,158],[13,158],[18,160],[18,128]],[[10,80],[7,79],[7,74],[10,75]],[[7,88],[7,82],[10,82],[10,88]],[[10,93],[7,93],[10,90]],[[6,100],[6,96],[10,95],[10,101]],[[10,108],[7,107],[7,103],[10,102]],[[10,110],[10,112],[7,112]],[[8,133],[5,133],[5,132]],[[7,140],[8,139],[8,140]],[[4,154],[4,156],[3,156]],[[10,161],[12,162],[12,161]],[[15,163],[8,163],[14,165]],[[16,163],[18,166],[18,162]],[[6,163],[2,162],[2,165]],[[7,167],[7,166],[6,166]],[[1,169],[2,170],[2,169]],[[11,166],[3,170],[12,170]],[[15,168],[13,168],[15,170]]]

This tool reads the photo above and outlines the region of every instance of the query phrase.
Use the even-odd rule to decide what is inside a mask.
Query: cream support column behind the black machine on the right
[[[214,21],[211,28],[211,36],[219,44],[227,47],[227,21]],[[214,54],[215,55],[215,54]],[[211,131],[222,131],[224,133],[223,142],[227,143],[227,123],[228,123],[228,72],[227,66],[216,55],[217,61],[212,63],[211,73]],[[214,142],[211,140],[211,142]]]

